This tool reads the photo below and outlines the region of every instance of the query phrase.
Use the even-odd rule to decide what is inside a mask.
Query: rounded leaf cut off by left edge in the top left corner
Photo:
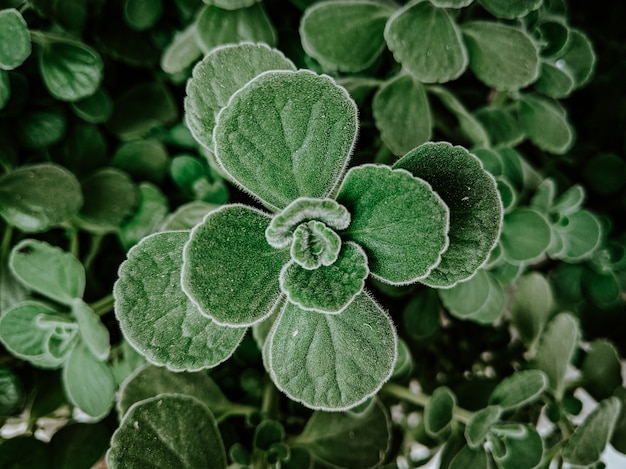
[[[31,53],[28,25],[15,8],[0,10],[0,44],[1,70],[19,67]]]

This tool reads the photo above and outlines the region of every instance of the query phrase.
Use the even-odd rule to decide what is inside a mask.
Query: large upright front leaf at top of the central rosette
[[[235,93],[215,126],[223,169],[269,207],[323,198],[341,178],[357,132],[356,104],[325,76],[266,72]]]

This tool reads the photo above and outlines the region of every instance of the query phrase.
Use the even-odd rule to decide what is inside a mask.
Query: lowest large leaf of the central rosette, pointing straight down
[[[267,342],[278,389],[313,409],[346,410],[364,402],[389,379],[396,361],[393,324],[366,293],[341,314],[287,303]]]

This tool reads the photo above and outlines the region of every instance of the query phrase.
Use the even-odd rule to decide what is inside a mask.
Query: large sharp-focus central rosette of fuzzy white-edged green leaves
[[[226,86],[210,88],[218,76]],[[217,49],[187,92],[194,135],[264,209],[225,205],[190,233],[160,233],[133,248],[115,289],[125,336],[157,364],[191,369],[194,355],[201,368],[269,319],[263,356],[280,390],[316,409],[358,405],[391,376],[397,348],[365,279],[447,286],[471,276],[499,233],[495,182],[445,143],[415,149],[393,168],[347,169],[356,105],[330,77],[294,71],[266,46]],[[478,221],[466,217],[481,212]],[[198,346],[180,347],[197,339],[191,325],[199,323]]]

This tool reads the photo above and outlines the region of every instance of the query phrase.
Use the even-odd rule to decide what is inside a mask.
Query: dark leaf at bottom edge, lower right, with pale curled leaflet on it
[[[491,427],[491,455],[502,469],[534,469],[543,456],[543,440],[531,426],[502,423]]]

